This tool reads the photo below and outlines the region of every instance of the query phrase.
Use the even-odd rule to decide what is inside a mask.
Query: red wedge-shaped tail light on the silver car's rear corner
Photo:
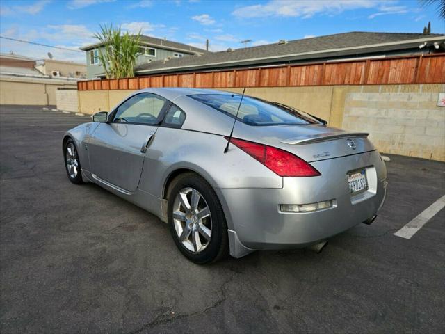
[[[228,137],[224,137],[227,140]],[[257,159],[261,164],[274,173],[285,177],[307,177],[321,175],[318,170],[312,167],[303,159],[296,155],[273,148],[272,146],[252,143],[252,141],[243,141],[241,139],[232,138],[230,143],[241,148],[244,152]]]

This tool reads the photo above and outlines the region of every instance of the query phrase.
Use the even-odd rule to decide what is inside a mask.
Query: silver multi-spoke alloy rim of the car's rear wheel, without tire
[[[211,213],[202,195],[193,188],[177,193],[173,205],[173,222],[181,244],[193,253],[200,253],[210,243]]]

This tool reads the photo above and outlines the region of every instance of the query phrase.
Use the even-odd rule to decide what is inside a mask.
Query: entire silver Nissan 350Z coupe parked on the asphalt
[[[277,102],[151,88],[92,119],[63,138],[70,181],[156,214],[199,264],[322,244],[371,223],[385,200],[385,164],[368,134]]]

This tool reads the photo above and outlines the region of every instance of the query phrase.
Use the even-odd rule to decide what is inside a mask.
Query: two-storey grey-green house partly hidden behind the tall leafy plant
[[[99,49],[103,43],[81,47],[86,51],[86,66],[88,79],[95,77],[105,77],[104,69],[99,61]],[[142,35],[140,38],[140,55],[136,60],[136,65],[146,65],[152,61],[168,61],[170,58],[190,58],[190,56],[201,56],[207,51],[197,47],[191,47],[171,40],[154,38]]]

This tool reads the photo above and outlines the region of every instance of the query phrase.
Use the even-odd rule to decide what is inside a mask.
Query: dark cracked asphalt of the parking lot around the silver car
[[[67,180],[61,138],[88,117],[0,106],[1,333],[444,333],[445,164],[391,156],[372,225],[309,250],[188,262],[168,226]]]

